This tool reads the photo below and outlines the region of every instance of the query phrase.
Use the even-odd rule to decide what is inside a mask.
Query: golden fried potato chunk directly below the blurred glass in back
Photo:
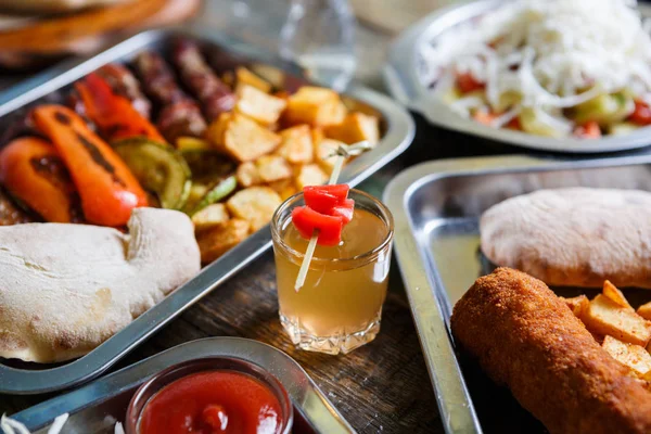
[[[289,98],[283,117],[288,125],[322,127],[342,123],[345,115],[345,106],[334,90],[304,86]]]

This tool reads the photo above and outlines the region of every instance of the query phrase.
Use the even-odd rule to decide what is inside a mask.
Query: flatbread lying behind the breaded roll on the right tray
[[[571,188],[503,201],[480,222],[482,252],[550,285],[651,289],[651,193]]]

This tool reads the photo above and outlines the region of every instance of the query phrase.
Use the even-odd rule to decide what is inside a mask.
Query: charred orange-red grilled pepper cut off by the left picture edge
[[[79,196],[56,149],[42,139],[16,139],[0,152],[0,182],[47,221],[84,220]]]

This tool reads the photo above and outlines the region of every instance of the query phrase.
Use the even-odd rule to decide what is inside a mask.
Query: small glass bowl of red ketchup
[[[208,357],[167,368],[138,388],[127,434],[289,434],[293,407],[280,381],[261,367]]]

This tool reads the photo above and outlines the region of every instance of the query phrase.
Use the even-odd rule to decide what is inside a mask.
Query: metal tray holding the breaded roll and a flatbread
[[[475,279],[492,271],[480,254],[481,214],[511,196],[576,186],[651,190],[651,156],[437,161],[404,170],[386,188],[396,255],[446,432],[545,432],[508,391],[456,353],[449,318]],[[648,290],[627,290],[626,296],[634,305],[651,298]]]

